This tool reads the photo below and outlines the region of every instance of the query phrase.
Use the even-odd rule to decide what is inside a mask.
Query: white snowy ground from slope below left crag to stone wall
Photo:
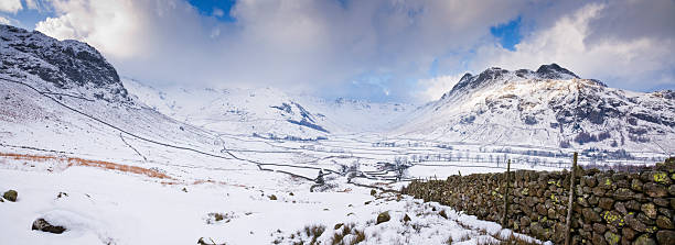
[[[17,202],[0,202],[3,243],[476,244],[511,237],[495,223],[383,191],[411,178],[454,175],[457,165],[467,165],[467,174],[502,171],[437,159],[428,162],[435,166],[417,163],[395,181],[385,164],[459,148],[383,147],[375,133],[269,140],[191,125],[139,102],[60,98],[44,92],[51,88],[9,81],[0,88],[0,191],[19,193]],[[325,185],[317,186],[320,170]],[[384,212],[390,220],[376,224]],[[66,232],[32,231],[38,219]]]

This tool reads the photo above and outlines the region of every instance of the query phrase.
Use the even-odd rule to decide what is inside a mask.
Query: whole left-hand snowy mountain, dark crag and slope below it
[[[157,153],[140,144],[219,147],[215,134],[131,98],[115,68],[85,43],[9,25],[0,25],[0,145],[101,158]]]

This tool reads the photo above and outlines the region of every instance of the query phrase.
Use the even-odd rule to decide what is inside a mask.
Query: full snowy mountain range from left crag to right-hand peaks
[[[143,92],[141,86],[132,87],[137,97],[129,96],[115,68],[87,44],[56,41],[8,25],[0,26],[0,76],[24,80],[58,100],[63,100],[61,94],[69,96],[75,107],[101,116],[107,114],[106,109],[87,108],[88,102],[132,105],[124,110],[157,110],[161,105],[164,109],[152,116],[182,116],[178,121],[221,125],[211,130],[239,135],[268,134],[270,138],[320,138],[336,132],[367,131],[476,144],[675,151],[669,144],[675,141],[675,92],[609,88],[555,63],[542,65],[536,71],[492,67],[479,75],[465,74],[441,99],[417,109],[345,99],[326,102],[269,89],[205,89],[192,96],[179,92],[179,99],[169,101],[163,98],[167,92]],[[52,57],[47,58],[47,54]],[[174,110],[181,107],[192,108]],[[190,116],[197,116],[197,121],[186,120]],[[129,129],[133,126],[132,122],[125,123]]]

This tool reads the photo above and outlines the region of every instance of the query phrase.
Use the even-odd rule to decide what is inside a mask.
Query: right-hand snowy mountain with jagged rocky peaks
[[[633,92],[556,64],[464,75],[397,129],[406,137],[485,145],[675,151],[675,92]]]

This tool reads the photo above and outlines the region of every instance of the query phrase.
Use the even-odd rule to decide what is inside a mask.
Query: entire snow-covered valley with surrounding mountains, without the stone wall
[[[3,244],[544,243],[396,191],[507,159],[561,170],[572,152],[581,165],[675,152],[675,92],[555,64],[468,74],[414,105],[153,88],[85,43],[9,25],[0,57],[0,191],[18,191],[0,203]]]

